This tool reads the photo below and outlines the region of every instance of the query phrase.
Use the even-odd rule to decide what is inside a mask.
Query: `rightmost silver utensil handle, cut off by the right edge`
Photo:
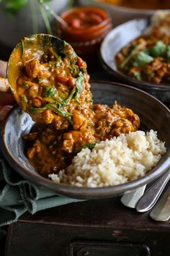
[[[170,218],[170,187],[166,190],[163,197],[151,210],[150,217],[155,221],[168,221]]]

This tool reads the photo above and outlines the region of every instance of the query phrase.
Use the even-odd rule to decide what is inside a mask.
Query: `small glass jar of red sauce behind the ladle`
[[[97,61],[100,43],[112,29],[109,14],[99,7],[76,7],[61,14],[68,27],[61,27],[61,38],[73,46],[88,64]]]

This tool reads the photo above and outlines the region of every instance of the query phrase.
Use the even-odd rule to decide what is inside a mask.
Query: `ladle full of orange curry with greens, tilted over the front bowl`
[[[35,121],[53,122],[55,129],[70,124],[79,128],[77,113],[91,104],[86,62],[68,43],[52,35],[23,38],[9,58],[7,78],[19,106]],[[80,125],[86,117],[82,116]]]

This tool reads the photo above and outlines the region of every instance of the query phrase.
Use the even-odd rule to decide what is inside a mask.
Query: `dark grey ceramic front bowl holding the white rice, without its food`
[[[81,199],[99,199],[112,197],[114,195],[128,192],[140,187],[143,184],[152,182],[163,174],[170,166],[170,111],[164,104],[153,98],[148,93],[141,90],[121,85],[114,82],[92,82],[92,93],[94,103],[105,103],[112,105],[116,100],[123,106],[132,108],[140,116],[143,130],[157,130],[158,137],[166,142],[167,153],[161,158],[158,165],[149,171],[146,176],[136,179],[133,182],[112,187],[101,188],[81,188],[69,185],[55,184],[50,179],[45,179],[37,174],[25,156],[25,145],[22,135],[30,132],[34,122],[31,117],[21,111],[19,107],[14,107],[1,129],[1,147],[4,156],[9,164],[21,174],[24,179],[55,191],[59,195],[76,197]]]

